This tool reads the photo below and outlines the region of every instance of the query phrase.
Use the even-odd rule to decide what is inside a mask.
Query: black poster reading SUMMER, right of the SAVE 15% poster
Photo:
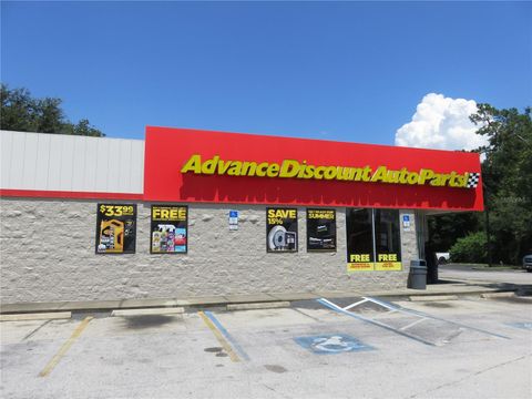
[[[307,209],[307,250],[336,252],[335,209]]]

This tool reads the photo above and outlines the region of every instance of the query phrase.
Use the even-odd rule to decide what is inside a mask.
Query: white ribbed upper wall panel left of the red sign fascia
[[[143,192],[144,142],[0,131],[1,188]]]

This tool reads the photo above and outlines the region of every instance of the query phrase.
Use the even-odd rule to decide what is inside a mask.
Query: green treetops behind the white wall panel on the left
[[[104,136],[83,119],[71,123],[61,109],[61,100],[34,99],[27,89],[0,88],[0,129],[19,132]]]

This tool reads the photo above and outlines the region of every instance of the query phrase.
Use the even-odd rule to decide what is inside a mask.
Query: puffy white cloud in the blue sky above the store
[[[418,104],[412,121],[396,132],[396,145],[437,150],[474,150],[487,143],[469,120],[477,102],[429,93]]]

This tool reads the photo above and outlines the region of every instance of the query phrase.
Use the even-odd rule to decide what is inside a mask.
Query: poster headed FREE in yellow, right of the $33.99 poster
[[[188,207],[152,205],[151,254],[186,254],[188,250]]]

